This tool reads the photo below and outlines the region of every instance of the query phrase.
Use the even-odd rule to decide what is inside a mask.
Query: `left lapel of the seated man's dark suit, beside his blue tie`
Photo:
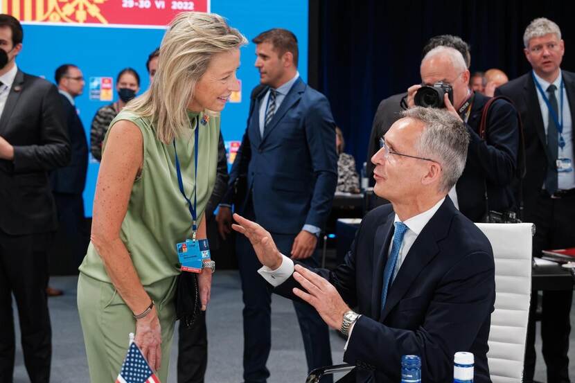
[[[373,276],[371,278],[373,287],[371,289],[371,317],[379,317],[381,310],[381,293],[383,289],[383,271],[387,262],[389,244],[393,237],[393,219],[396,213],[391,211],[387,221],[381,224],[375,231],[373,241]]]

